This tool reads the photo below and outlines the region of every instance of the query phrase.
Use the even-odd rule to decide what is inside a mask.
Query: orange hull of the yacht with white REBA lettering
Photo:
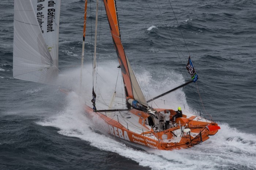
[[[125,127],[124,123],[120,123],[120,118],[119,120],[116,120],[113,119],[113,117],[104,115],[105,113],[97,112],[96,114],[93,109],[88,106],[84,106],[84,109],[86,113],[89,114],[89,116],[97,115],[99,118],[102,118],[108,124],[110,134],[118,138],[125,139],[129,142],[159,150],[172,150],[192,147],[203,141],[206,141],[209,139],[209,135],[214,135],[217,133],[218,129],[220,129],[217,123],[210,122],[209,120],[208,122],[199,121],[203,118],[198,116],[191,116],[187,119],[184,118],[184,115],[184,117],[176,119],[176,123],[180,123],[180,125],[178,124],[177,126],[171,127],[167,130],[154,131],[152,128],[148,128],[148,126],[143,123],[147,113],[132,109],[128,112],[129,115],[134,114],[140,116],[140,119],[138,119],[140,125],[142,125],[142,133],[140,133],[139,131],[130,130],[128,124]],[[163,110],[165,109],[157,109],[157,111]],[[171,116],[174,115],[174,110],[170,111]],[[214,128],[214,130],[209,131],[207,126]],[[184,132],[184,129],[190,129],[190,131]]]

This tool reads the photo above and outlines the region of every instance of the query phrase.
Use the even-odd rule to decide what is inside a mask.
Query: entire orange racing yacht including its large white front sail
[[[212,120],[166,108],[154,108],[151,102],[172,91],[196,82],[198,79],[192,59],[188,57],[187,70],[191,80],[152,99],[146,99],[121,41],[115,0],[103,0],[117,52],[125,98],[117,98],[116,91],[108,104],[97,98],[97,21],[96,3],[93,93],[83,96],[88,116],[97,116],[108,124],[110,134],[154,149],[171,150],[188,148],[209,139],[220,129]],[[39,83],[51,83],[58,74],[58,35],[60,0],[17,0],[14,3],[14,78]],[[81,68],[83,68],[86,35],[87,0],[85,1],[84,32]],[[80,79],[82,81],[82,69]],[[80,82],[80,84],[82,84]],[[68,91],[64,91],[68,93]],[[111,95],[111,94],[110,94]],[[91,103],[92,102],[92,107]]]

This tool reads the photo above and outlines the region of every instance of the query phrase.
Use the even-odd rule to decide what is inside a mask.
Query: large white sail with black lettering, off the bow
[[[58,75],[60,0],[14,1],[13,76],[50,83]]]

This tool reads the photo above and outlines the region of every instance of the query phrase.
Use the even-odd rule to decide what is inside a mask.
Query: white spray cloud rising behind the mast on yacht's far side
[[[124,89],[121,78],[121,73],[118,74],[118,63],[109,62],[108,64],[99,64],[98,78],[97,78],[97,88],[95,92],[98,96],[98,99],[103,98],[107,103],[110,100],[116,86],[117,75],[118,82],[116,86],[116,92],[118,97],[124,97]],[[140,69],[140,70],[138,70]],[[91,65],[87,64],[83,69],[83,81],[82,81],[82,90],[80,90],[80,68],[72,69],[66,72],[62,72],[59,76],[59,85],[65,86],[67,88],[72,88],[72,90],[78,92],[81,96],[91,96],[92,91],[92,71]],[[181,83],[184,83],[184,79],[181,74],[177,74],[170,70],[165,70],[164,68],[159,68],[159,72],[162,72],[161,76],[158,79],[153,78],[153,75],[145,71],[145,68],[137,68],[135,71],[136,76],[139,80],[139,84],[142,87],[142,91],[146,97],[146,100],[151,99],[163,92],[166,92]],[[159,83],[161,82],[161,83]],[[177,84],[178,83],[178,84]],[[101,97],[102,96],[102,97]],[[178,89],[166,96],[163,96],[154,102],[150,103],[150,106],[155,108],[172,108],[176,110],[179,106],[182,107],[184,113],[194,113],[194,110],[189,108],[186,96],[182,89]],[[185,106],[185,108],[184,108]]]

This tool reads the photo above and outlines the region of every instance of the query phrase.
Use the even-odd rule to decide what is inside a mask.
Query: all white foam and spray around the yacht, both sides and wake
[[[111,92],[110,87],[115,86],[118,68],[114,69],[114,71],[111,70],[116,65],[118,64],[114,62],[109,63],[106,67],[98,67],[98,72],[102,77],[98,77],[98,80],[101,82],[98,83],[98,86],[100,86],[101,95],[103,96]],[[88,67],[90,68],[91,66]],[[165,73],[168,76],[162,78],[165,80],[162,84],[170,83],[169,85],[166,83],[164,88],[161,84],[157,83],[158,80],[152,79],[149,72],[137,74],[145,94],[154,96],[159,94],[159,92],[167,91],[171,87],[176,86],[174,80],[177,82],[184,81],[181,75],[174,74],[171,71]],[[79,74],[80,69],[70,70],[67,73],[64,72],[61,75],[60,81],[63,80],[67,83],[66,85],[72,86],[73,90],[79,90]],[[83,91],[79,94],[89,93],[91,95],[91,71],[84,69],[83,75]],[[174,76],[174,78],[169,78],[170,75]],[[118,92],[122,93],[123,87],[121,83],[117,88]],[[99,94],[97,96],[100,97]],[[186,103],[182,90],[177,90],[166,96],[166,100],[168,98],[176,99],[174,100],[176,103],[167,103],[167,105],[171,104],[174,107],[180,106],[180,103]],[[44,121],[38,122],[38,124],[57,127],[60,129],[58,133],[62,135],[78,137],[90,142],[91,146],[117,153],[138,162],[141,166],[148,166],[151,169],[239,169],[239,167],[240,169],[256,169],[256,136],[231,129],[227,124],[220,124],[221,130],[216,135],[189,149],[161,151],[138,145],[138,147],[145,150],[142,151],[133,149],[129,147],[130,145],[127,146],[125,141],[110,137],[107,134],[108,127],[104,125],[103,120],[93,118],[93,121],[91,121],[91,119],[87,118],[82,108],[83,103],[84,100],[75,92],[72,92],[67,95],[67,105],[63,110],[60,110],[56,115]],[[163,104],[163,106],[166,106],[166,104]],[[187,110],[191,109],[187,108]],[[95,130],[100,130],[102,133],[96,133]]]

